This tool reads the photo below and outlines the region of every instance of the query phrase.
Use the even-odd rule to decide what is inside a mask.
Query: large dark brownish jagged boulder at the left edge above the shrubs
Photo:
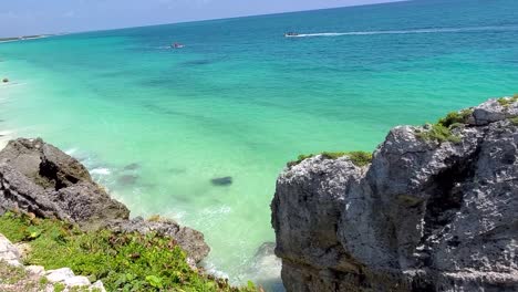
[[[130,216],[76,159],[39,138],[11,140],[0,152],[0,195],[1,212],[21,209],[85,229]]]

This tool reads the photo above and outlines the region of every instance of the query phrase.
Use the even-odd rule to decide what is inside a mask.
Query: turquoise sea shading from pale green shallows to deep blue
[[[66,149],[133,216],[203,231],[209,269],[261,282],[286,163],[517,92],[517,15],[422,0],[1,43],[0,134]]]

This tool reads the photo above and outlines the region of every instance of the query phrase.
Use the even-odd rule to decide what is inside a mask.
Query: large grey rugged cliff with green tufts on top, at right
[[[317,156],[278,178],[288,291],[517,291],[518,97],[393,128],[370,166]],[[436,132],[434,132],[436,131]]]

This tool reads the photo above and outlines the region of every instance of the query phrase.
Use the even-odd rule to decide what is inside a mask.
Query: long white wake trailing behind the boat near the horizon
[[[413,34],[413,33],[462,33],[483,31],[516,31],[518,25],[508,27],[473,27],[473,28],[444,28],[444,29],[418,29],[418,30],[391,30],[391,31],[351,31],[351,32],[321,32],[300,33],[298,35],[287,35],[287,38],[311,38],[311,36],[340,36],[340,35],[375,35],[375,34]]]

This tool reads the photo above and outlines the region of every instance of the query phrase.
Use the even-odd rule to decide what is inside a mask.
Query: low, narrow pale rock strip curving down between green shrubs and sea
[[[154,231],[162,236],[168,236],[173,238],[195,262],[205,259],[210,251],[201,232],[188,227],[180,227],[170,219],[158,218],[157,220],[148,221],[137,217],[132,220],[114,221],[111,223],[110,228],[118,232],[138,232],[146,234]]]

